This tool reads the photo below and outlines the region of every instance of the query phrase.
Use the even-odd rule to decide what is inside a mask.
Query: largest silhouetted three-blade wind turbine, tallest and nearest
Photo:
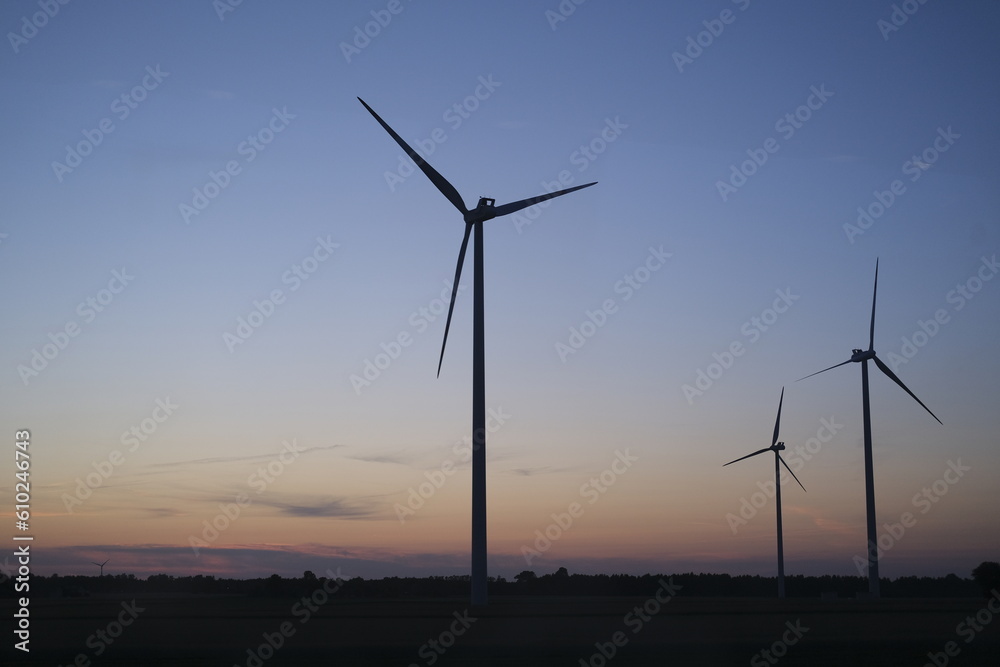
[[[473,344],[472,344],[472,604],[485,605],[486,595],[486,371],[485,371],[485,339],[484,339],[484,318],[483,318],[483,223],[502,215],[508,215],[523,208],[533,206],[553,197],[575,192],[583,188],[588,188],[594,183],[578,185],[566,190],[550,192],[548,194],[522,199],[510,204],[496,206],[495,199],[480,197],[476,208],[469,210],[465,208],[461,195],[451,183],[449,183],[434,167],[430,166],[423,157],[403,138],[396,134],[384,120],[382,120],[365,101],[358,98],[365,109],[375,117],[386,132],[389,133],[400,148],[406,151],[410,159],[424,175],[430,179],[441,194],[452,203],[462,214],[465,221],[465,236],[462,238],[462,247],[458,251],[458,265],[455,267],[455,282],[451,288],[451,303],[448,305],[448,319],[444,326],[444,339],[441,342],[441,356],[438,359],[438,376],[441,375],[441,363],[444,361],[444,348],[448,343],[448,330],[451,328],[451,315],[455,309],[455,296],[458,293],[458,283],[462,276],[462,264],[465,261],[465,250],[469,245],[469,234],[475,231],[473,242],[475,255],[475,269],[473,274]]]

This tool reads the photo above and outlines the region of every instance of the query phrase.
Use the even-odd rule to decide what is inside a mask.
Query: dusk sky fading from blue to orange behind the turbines
[[[462,222],[421,174],[387,179],[401,151],[358,96],[469,206],[561,172],[600,182],[486,224],[491,575],[772,575],[773,501],[727,520],[772,460],[722,464],[770,444],[783,386],[782,440],[825,440],[787,453],[808,492],[784,487],[786,570],[858,574],[860,369],[795,380],[866,347],[876,258],[876,350],[944,423],[872,367],[879,525],[915,519],[881,573],[996,560],[1000,7],[913,4],[896,26],[893,3],[860,0],[591,0],[566,17],[556,0],[109,1],[34,19],[38,3],[3,3],[0,488],[12,524],[30,429],[36,571],[468,572],[472,255],[436,379]],[[199,201],[212,174],[225,187]],[[852,230],[859,207],[876,215]],[[588,312],[602,326],[572,339]],[[352,382],[369,362],[378,377]],[[700,371],[716,378],[686,393]],[[283,443],[301,453],[275,463]],[[617,452],[636,460],[585,488]],[[952,484],[949,463],[968,468]]]

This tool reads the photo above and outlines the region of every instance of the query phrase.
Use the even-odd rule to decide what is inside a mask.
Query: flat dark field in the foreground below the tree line
[[[139,597],[134,620],[123,602],[33,601],[31,659],[7,639],[3,664],[920,666],[931,653],[939,667],[1000,665],[1000,614],[976,599],[331,599],[313,612],[295,599]],[[112,638],[119,617],[131,624]]]

